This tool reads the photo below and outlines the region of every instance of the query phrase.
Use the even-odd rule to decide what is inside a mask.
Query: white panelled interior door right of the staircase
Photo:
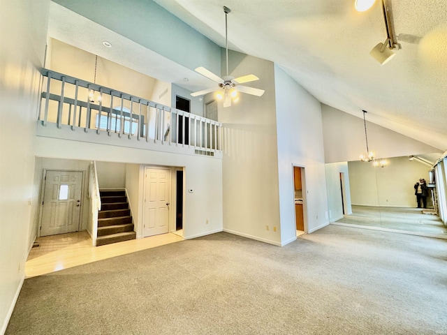
[[[144,237],[169,232],[169,169],[145,168],[144,204]]]

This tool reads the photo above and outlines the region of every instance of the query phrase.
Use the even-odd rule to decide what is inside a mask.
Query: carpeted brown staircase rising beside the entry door
[[[126,191],[99,191],[99,194],[101,211],[98,212],[96,246],[135,239]]]

